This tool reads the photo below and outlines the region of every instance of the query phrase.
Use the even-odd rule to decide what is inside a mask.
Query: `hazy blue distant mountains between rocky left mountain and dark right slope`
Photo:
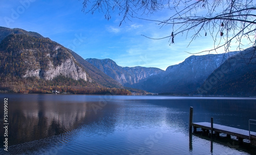
[[[229,57],[238,54],[190,56],[184,62],[158,68],[121,67],[110,59],[86,59],[101,71],[124,86],[154,93],[190,94],[200,87],[207,77]]]

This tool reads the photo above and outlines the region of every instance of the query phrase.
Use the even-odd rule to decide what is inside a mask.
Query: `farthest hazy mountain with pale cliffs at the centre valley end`
[[[112,77],[125,87],[132,87],[133,84],[139,83],[141,80],[149,76],[163,72],[163,70],[154,67],[121,67],[111,59],[86,59],[89,63]]]

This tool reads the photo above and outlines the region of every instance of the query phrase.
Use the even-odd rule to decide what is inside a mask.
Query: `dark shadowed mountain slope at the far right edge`
[[[230,57],[197,90],[203,95],[256,96],[256,48]]]

